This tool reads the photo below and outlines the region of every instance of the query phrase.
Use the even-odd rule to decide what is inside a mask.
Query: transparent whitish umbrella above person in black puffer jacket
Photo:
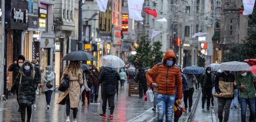
[[[98,60],[98,63],[100,66],[112,67],[112,68],[125,66],[125,63],[123,62],[123,60],[115,55],[104,55]]]

